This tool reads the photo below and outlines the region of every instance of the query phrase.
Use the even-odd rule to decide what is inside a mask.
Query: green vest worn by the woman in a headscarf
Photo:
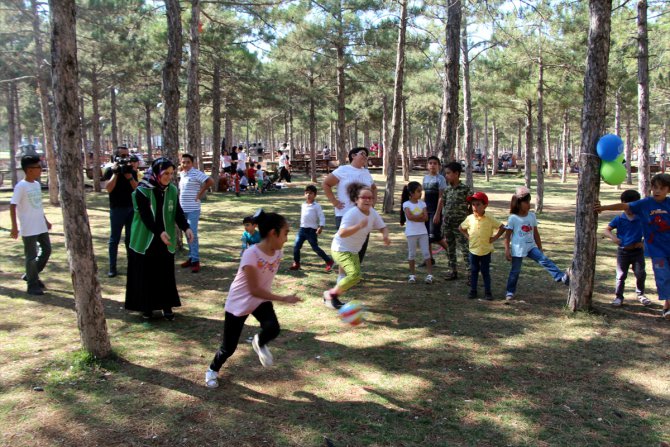
[[[145,254],[151,241],[154,239],[154,234],[144,225],[140,211],[137,208],[137,194],[142,194],[151,201],[151,214],[156,217],[156,196],[152,188],[138,186],[133,192],[133,209],[135,214],[133,216],[133,225],[130,228],[130,248],[139,254]],[[177,214],[178,193],[177,187],[170,183],[165,190],[165,198],[163,201],[163,223],[165,225],[165,232],[170,236],[172,245],[167,245],[170,253],[174,253],[175,249],[175,215]]]

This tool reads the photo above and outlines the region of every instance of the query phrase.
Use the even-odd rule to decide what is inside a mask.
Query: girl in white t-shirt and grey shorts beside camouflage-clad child
[[[421,200],[421,183],[409,182],[402,190],[400,201],[400,225],[405,225],[405,236],[407,237],[407,260],[409,262],[409,283],[416,283],[416,246],[418,245],[423,254],[426,264],[426,284],[433,283],[433,260],[430,256],[430,242],[428,241],[428,229],[425,222],[428,220],[426,202]]]

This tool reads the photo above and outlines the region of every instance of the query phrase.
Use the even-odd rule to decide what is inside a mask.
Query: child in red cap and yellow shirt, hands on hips
[[[505,233],[505,226],[486,214],[489,198],[483,192],[468,196],[472,212],[458,227],[468,240],[470,250],[470,294],[468,298],[477,298],[477,279],[479,272],[484,278],[484,298],[493,300],[491,294],[491,253],[493,242]]]

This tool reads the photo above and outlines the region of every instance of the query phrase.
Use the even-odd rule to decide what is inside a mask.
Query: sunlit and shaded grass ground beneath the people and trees
[[[413,179],[419,180],[419,176]],[[299,177],[298,180],[304,180]],[[383,184],[376,175],[378,184]],[[508,175],[476,189],[505,220],[523,179]],[[539,216],[545,252],[560,267],[573,254],[576,178],[547,181]],[[402,183],[402,182],[399,182]],[[203,270],[178,269],[183,307],[173,322],[143,322],[123,309],[125,275],[108,279],[106,194],[88,193],[99,279],[115,358],[80,350],[60,209],[46,206],[53,255],[43,297],[25,294],[23,247],[9,238],[10,194],[0,193],[0,444],[4,446],[657,446],[670,440],[670,324],[659,318],[651,265],[647,295],[611,308],[615,250],[598,250],[593,313],[565,308],[566,288],[526,262],[517,299],[506,303],[509,264],[497,243],[496,301],[468,300],[463,280],[406,283],[406,242],[397,216],[384,216],[393,244],[371,236],[365,280],[346,298],[368,308],[366,323],[343,325],[320,295],[335,274],[303,248],[290,272],[302,186],[265,196],[210,194],[200,224]],[[603,203],[620,191],[603,186]],[[396,203],[399,200],[399,191]],[[327,204],[323,195],[317,198]],[[46,203],[46,194],[45,194]],[[282,333],[264,369],[250,346],[253,318],[220,387],[204,372],[222,332],[223,303],[237,269],[241,219],[258,207],[285,214],[292,233],[275,289],[303,301],[276,305]],[[321,236],[328,248],[333,214]],[[601,227],[614,214],[601,218]],[[602,228],[601,228],[602,229]],[[125,273],[125,254],[119,267]],[[177,261],[185,258],[181,253]],[[632,277],[632,273],[631,273]],[[246,342],[246,343],[245,343]],[[40,388],[35,388],[40,387]],[[43,391],[36,391],[42,389]]]

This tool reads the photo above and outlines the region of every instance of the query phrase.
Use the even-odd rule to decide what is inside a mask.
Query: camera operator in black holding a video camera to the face
[[[130,227],[133,223],[132,194],[137,188],[137,162],[131,161],[126,146],[119,146],[114,151],[112,165],[105,169],[103,180],[107,181],[109,193],[109,220],[111,234],[109,236],[109,272],[107,276],[117,275],[116,257],[121,241],[121,230],[125,227],[126,255],[130,243]]]

